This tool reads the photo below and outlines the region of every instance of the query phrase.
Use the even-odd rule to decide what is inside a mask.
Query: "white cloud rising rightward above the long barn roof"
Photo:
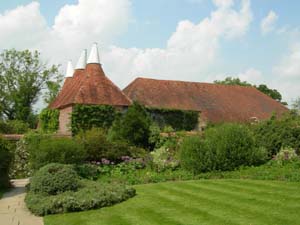
[[[220,40],[240,38],[252,21],[248,0],[242,1],[239,11],[229,7],[229,1],[215,3],[217,9],[198,24],[180,21],[166,48],[112,47],[103,56],[112,79],[122,87],[137,76],[203,80],[203,74],[216,62]]]

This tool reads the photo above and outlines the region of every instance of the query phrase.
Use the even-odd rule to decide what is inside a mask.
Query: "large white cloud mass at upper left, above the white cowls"
[[[109,45],[130,17],[130,0],[79,0],[62,7],[50,27],[32,2],[0,15],[0,49],[38,49],[52,63],[76,60],[95,41]]]

